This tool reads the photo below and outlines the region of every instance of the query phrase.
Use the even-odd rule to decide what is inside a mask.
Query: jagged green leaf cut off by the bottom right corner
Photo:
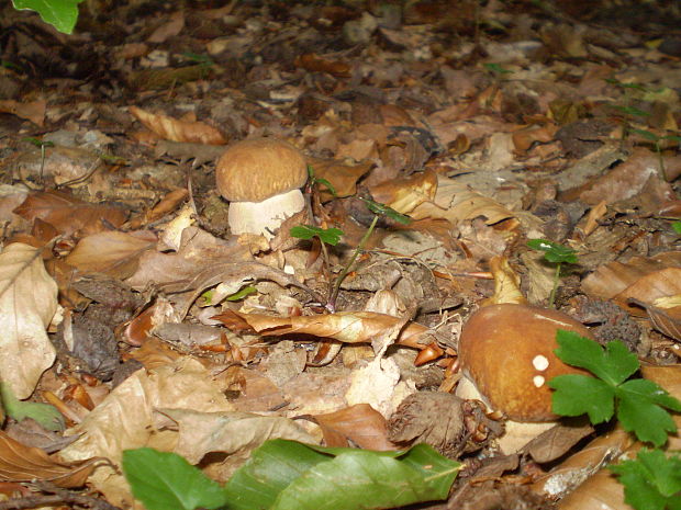
[[[636,510],[681,509],[681,458],[661,450],[641,450],[636,460],[609,469],[624,485],[624,500]]]

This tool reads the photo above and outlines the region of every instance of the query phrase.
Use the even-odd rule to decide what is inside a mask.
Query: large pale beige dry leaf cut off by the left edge
[[[57,310],[57,284],[41,252],[14,242],[0,253],[0,374],[20,399],[31,396],[56,355],[45,329]]]

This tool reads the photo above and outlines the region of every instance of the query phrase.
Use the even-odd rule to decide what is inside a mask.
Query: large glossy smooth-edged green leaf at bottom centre
[[[418,444],[408,452],[265,442],[228,481],[230,509],[355,510],[446,499],[460,464]]]

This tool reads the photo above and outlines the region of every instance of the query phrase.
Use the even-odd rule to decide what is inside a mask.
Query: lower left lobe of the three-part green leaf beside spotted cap
[[[551,407],[556,415],[589,415],[593,424],[610,420],[615,412],[615,390],[611,385],[588,375],[559,375],[548,382],[556,389]]]

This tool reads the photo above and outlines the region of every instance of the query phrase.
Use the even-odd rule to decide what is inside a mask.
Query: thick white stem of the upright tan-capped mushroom
[[[232,234],[261,234],[267,239],[288,217],[299,213],[305,206],[305,199],[300,190],[294,189],[263,202],[232,202],[227,219]]]

